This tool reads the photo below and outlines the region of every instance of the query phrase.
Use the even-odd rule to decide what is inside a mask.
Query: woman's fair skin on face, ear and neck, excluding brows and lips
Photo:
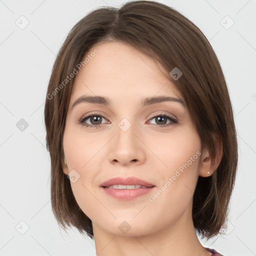
[[[216,165],[210,165],[207,149],[201,148],[186,105],[164,101],[140,106],[143,97],[182,99],[182,95],[150,57],[132,46],[108,41],[93,45],[88,52],[94,48],[99,52],[75,75],[63,135],[63,172],[75,169],[80,175],[70,184],[79,207],[92,220],[96,253],[211,255],[196,236],[191,212],[198,175],[212,174]],[[82,95],[105,96],[111,104],[82,102],[71,109]],[[103,116],[99,127],[78,123],[94,112]],[[157,122],[160,114],[170,115],[177,123],[168,118]],[[126,131],[118,126],[123,118],[131,124]],[[97,124],[92,118],[84,122]],[[158,198],[149,201],[197,151],[200,156]],[[136,176],[155,187],[149,194],[121,201],[99,188],[100,183],[116,176]],[[130,226],[126,233],[118,228],[123,221]]]

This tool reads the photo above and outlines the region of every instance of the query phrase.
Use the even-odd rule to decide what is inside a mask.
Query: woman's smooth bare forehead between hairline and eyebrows
[[[71,98],[96,94],[133,101],[157,93],[181,98],[175,84],[159,70],[164,70],[163,67],[129,44],[98,43],[86,56],[86,64],[75,75]]]

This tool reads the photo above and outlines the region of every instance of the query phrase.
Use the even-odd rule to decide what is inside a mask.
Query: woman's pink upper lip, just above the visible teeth
[[[100,186],[111,186],[111,185],[116,185],[116,184],[120,184],[120,185],[139,184],[139,185],[142,185],[142,186],[154,186],[153,184],[150,184],[150,183],[146,182],[143,179],[133,177],[133,176],[110,178],[110,179],[104,181],[103,183],[101,183]]]

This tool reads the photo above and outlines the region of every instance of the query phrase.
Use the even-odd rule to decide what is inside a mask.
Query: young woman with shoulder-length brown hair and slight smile
[[[59,224],[98,255],[221,255],[237,166],[218,59],[190,20],[154,1],[88,13],[55,60],[44,109]]]

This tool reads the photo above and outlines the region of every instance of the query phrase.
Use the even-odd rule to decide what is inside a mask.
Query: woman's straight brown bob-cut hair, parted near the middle
[[[166,69],[164,75],[181,92],[211,161],[218,159],[217,149],[222,143],[217,169],[208,177],[198,177],[192,207],[193,225],[199,234],[207,239],[217,235],[227,219],[237,169],[237,138],[227,85],[200,29],[175,9],[155,1],[128,1],[118,8],[103,6],[90,11],[73,26],[58,52],[44,106],[55,218],[64,230],[73,225],[94,238],[92,222],[79,210],[63,173],[62,140],[74,80],[69,74],[95,43],[104,41],[127,43]],[[174,67],[182,71],[179,79],[169,75]]]

